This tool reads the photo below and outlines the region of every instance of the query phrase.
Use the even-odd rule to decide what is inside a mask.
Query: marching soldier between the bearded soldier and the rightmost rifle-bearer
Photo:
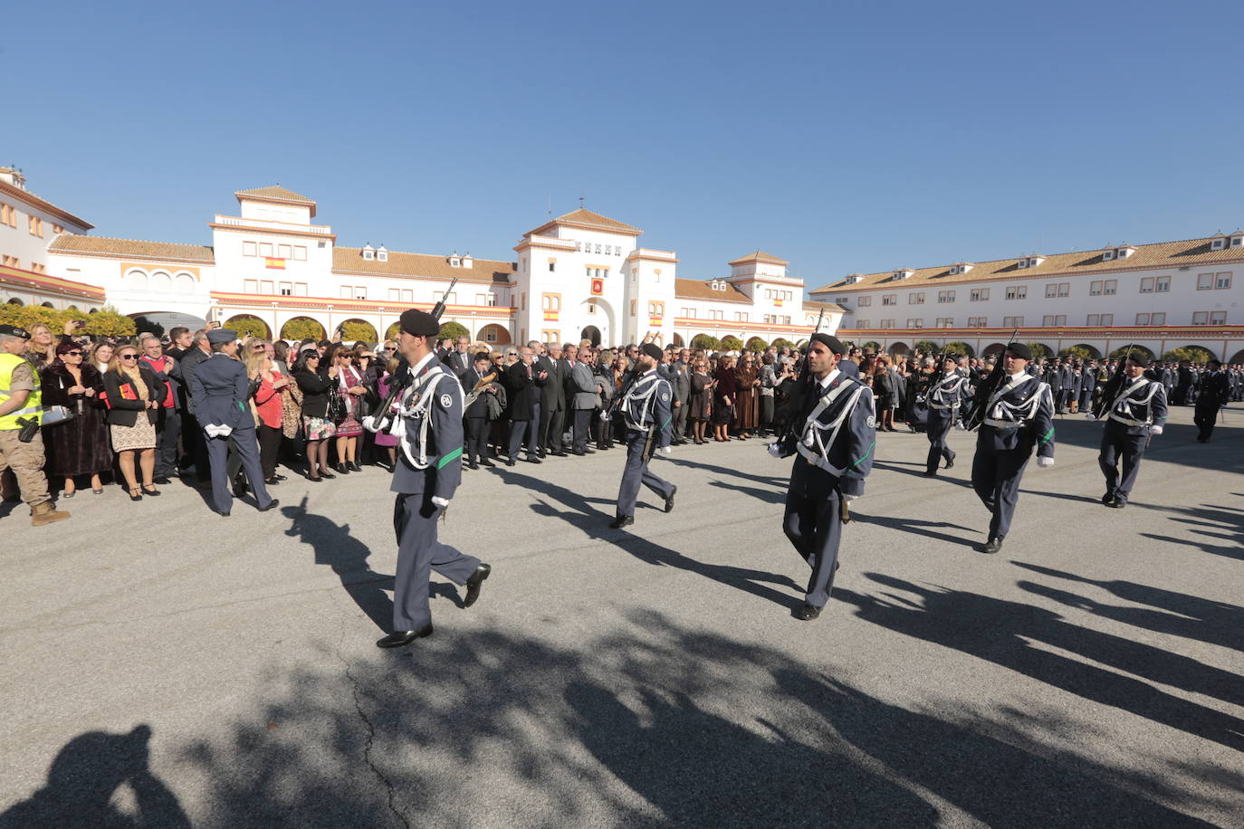
[[[1001,549],[1010,532],[1019,482],[1033,447],[1037,466],[1054,466],[1054,394],[1026,372],[1033,350],[1024,343],[1011,343],[1001,359],[1001,383],[985,401],[972,460],[972,486],[994,516],[989,541],[982,547],[985,553]]]

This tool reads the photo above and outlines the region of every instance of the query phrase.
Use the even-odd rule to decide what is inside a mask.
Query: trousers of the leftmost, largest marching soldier
[[[432,570],[458,585],[479,568],[479,559],[437,539],[442,507],[430,492],[398,493],[393,501],[397,533],[397,574],[393,577],[393,630],[419,630],[432,624],[428,580]]]

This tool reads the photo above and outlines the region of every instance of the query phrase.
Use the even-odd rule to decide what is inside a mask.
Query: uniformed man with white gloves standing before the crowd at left
[[[218,328],[208,332],[211,357],[190,374],[190,406],[203,429],[211,467],[211,500],[216,512],[228,516],[233,508],[229,491],[229,446],[241,459],[259,511],[267,512],[279,502],[267,495],[264,472],[259,465],[259,442],[255,440],[255,416],[250,413],[250,378],[238,353],[238,332]]]

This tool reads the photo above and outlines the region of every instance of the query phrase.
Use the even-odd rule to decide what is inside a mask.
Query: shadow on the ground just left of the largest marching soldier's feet
[[[315,563],[331,567],[355,604],[377,628],[388,630],[393,624],[393,602],[384,590],[393,589],[393,577],[372,569],[367,563],[372,551],[350,534],[350,524],[337,526],[325,516],[307,512],[307,496],[296,507],[281,507],[281,513],[290,520],[285,534],[311,544]]]

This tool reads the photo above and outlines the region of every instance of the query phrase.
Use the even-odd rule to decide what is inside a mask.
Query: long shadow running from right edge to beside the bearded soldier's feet
[[[928,589],[878,573],[866,575],[878,584],[914,594],[918,603],[887,602],[848,589],[835,590],[837,598],[858,608],[856,615],[862,619],[988,660],[1086,700],[1244,751],[1244,720],[1096,664],[1153,676],[1154,681],[1171,682],[1176,687],[1209,689],[1219,698],[1238,698],[1239,692],[1223,685],[1225,671],[1207,670],[1208,666],[1195,660],[1074,625],[1044,608],[963,590]],[[1034,648],[1030,640],[1087,661]]]

